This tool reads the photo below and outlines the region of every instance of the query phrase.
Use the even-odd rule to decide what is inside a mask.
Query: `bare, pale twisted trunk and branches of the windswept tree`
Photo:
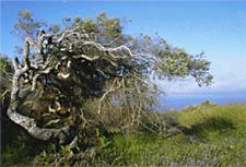
[[[42,61],[37,61],[35,59],[32,59],[33,61],[31,61],[31,48],[34,48],[35,55],[40,57]],[[101,44],[90,40],[89,35],[84,33],[83,29],[77,26],[71,29],[66,29],[58,35],[45,34],[44,31],[40,31],[38,33],[37,40],[34,40],[30,37],[25,38],[23,56],[23,64],[20,63],[17,58],[13,59],[14,75],[12,80],[12,93],[8,115],[12,121],[23,127],[34,138],[40,140],[63,140],[69,135],[70,127],[65,126],[56,129],[47,128],[60,121],[60,119],[55,119],[49,120],[42,128],[37,126],[37,122],[34,118],[20,114],[20,106],[22,105],[24,99],[20,94],[20,91],[23,91],[24,87],[27,87],[26,94],[35,92],[35,90],[37,88],[38,79],[42,75],[55,75],[55,77],[69,81],[69,76],[73,74],[72,62],[77,61],[77,59],[82,59],[86,62],[105,60],[112,67],[117,69],[119,60],[131,59],[132,57],[134,57],[131,50],[126,46],[106,48]],[[62,70],[60,70],[61,68],[65,68],[68,72],[63,72]],[[104,74],[104,71],[102,69],[95,68],[95,71]],[[22,77],[27,79],[28,81],[22,82]],[[117,80],[118,79],[116,77],[109,90],[101,97],[97,111],[98,114],[101,114],[101,105],[106,96],[110,92],[114,92],[121,86],[119,81]],[[115,87],[116,84],[118,86]],[[59,108],[61,108],[60,104]],[[56,115],[56,112],[49,111],[52,111],[50,105],[49,107],[47,107],[48,114],[42,116]],[[75,143],[75,141],[77,140],[74,140],[73,143]],[[73,145],[73,143],[71,143],[71,145]]]

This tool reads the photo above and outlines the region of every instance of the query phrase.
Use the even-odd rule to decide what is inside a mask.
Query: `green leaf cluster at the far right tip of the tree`
[[[155,65],[159,73],[167,79],[192,76],[199,86],[209,85],[213,76],[208,72],[210,62],[203,59],[203,52],[198,56],[191,56],[183,49],[174,48],[167,45],[164,50],[160,50],[157,57],[161,59]]]

